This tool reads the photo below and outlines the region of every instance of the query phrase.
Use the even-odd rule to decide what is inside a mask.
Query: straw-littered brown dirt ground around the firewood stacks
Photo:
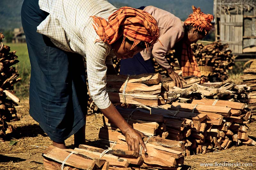
[[[52,144],[50,138],[28,114],[28,101],[17,106],[17,112],[23,115],[20,121],[12,122],[16,130],[8,135],[7,141],[0,143],[0,170],[42,170],[42,152]],[[89,115],[86,118],[86,140],[97,146],[98,133],[103,125],[102,114]],[[256,121],[249,124],[248,135],[255,140]],[[10,141],[18,143],[10,146]],[[66,140],[68,148],[74,148],[74,136]],[[216,163],[215,163],[216,162]],[[213,163],[217,166],[202,166],[200,163]],[[223,166],[226,163],[225,166]],[[232,164],[233,163],[233,164]],[[239,164],[240,163],[240,164]],[[221,165],[220,165],[221,164]],[[237,165],[238,164],[238,165]],[[223,151],[197,154],[185,157],[184,170],[255,170],[256,146],[232,146]]]

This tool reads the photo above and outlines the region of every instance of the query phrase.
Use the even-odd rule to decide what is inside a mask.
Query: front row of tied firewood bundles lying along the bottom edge
[[[152,137],[146,144],[148,152],[140,154],[127,150],[126,142],[122,141],[123,135],[119,135],[118,138],[120,140],[113,143],[113,147],[104,146],[107,150],[89,145],[79,145],[79,148],[74,150],[49,146],[42,154],[44,169],[61,169],[62,165],[65,170],[140,170],[140,167],[143,169],[181,169],[177,165],[183,164],[184,157],[181,151],[176,150],[185,148],[182,142]],[[162,145],[159,144],[159,140],[162,140]]]

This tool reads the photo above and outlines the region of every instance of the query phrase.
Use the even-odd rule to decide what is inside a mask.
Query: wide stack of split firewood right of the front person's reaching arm
[[[174,102],[168,110],[151,108],[151,114],[141,108],[116,108],[136,130],[158,136],[159,143],[164,139],[183,141],[186,153],[193,154],[227,149],[231,143],[255,145],[247,134],[251,113],[244,106],[238,102],[202,99],[192,104]],[[99,138],[112,143],[120,140],[120,130],[107,118],[103,121]]]

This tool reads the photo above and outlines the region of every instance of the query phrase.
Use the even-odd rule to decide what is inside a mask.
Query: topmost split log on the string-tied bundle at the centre
[[[125,82],[127,75],[107,75],[107,81],[121,81]],[[159,84],[161,80],[161,75],[159,73],[153,74],[140,74],[140,75],[130,75],[129,83],[143,83],[143,84]]]

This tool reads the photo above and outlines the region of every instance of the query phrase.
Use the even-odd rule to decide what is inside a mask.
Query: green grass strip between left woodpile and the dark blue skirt
[[[28,58],[28,48],[26,43],[4,43],[11,48],[11,51],[17,51],[16,55],[20,61],[16,67],[22,80],[14,85],[16,96],[20,99],[28,98],[29,96],[29,79],[30,79],[30,62]]]

